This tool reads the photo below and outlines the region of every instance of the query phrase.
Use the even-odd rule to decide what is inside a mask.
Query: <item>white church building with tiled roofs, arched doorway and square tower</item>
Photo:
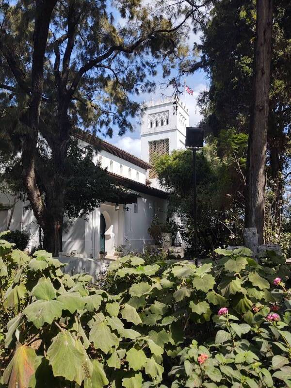
[[[63,251],[78,253],[85,258],[98,258],[105,250],[107,256],[114,254],[117,246],[128,244],[132,250],[143,251],[152,243],[148,228],[154,215],[161,221],[167,216],[168,194],[159,186],[158,176],[152,163],[157,156],[185,148],[186,127],[189,113],[178,102],[150,102],[141,125],[141,158],[101,141],[96,155],[102,168],[117,182],[129,189],[131,203],[102,203],[91,214],[74,220],[63,234]],[[32,235],[30,247],[39,245],[39,227],[27,203],[18,201],[13,209],[13,198],[0,193],[0,231],[25,230]],[[12,214],[13,212],[13,214]]]

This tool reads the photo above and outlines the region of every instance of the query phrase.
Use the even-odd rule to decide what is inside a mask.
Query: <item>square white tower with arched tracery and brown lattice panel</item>
[[[149,102],[146,106],[141,129],[141,158],[153,165],[157,157],[185,148],[189,113],[180,101],[175,110],[174,101],[169,99]],[[152,187],[160,187],[155,169],[149,170],[148,179]]]

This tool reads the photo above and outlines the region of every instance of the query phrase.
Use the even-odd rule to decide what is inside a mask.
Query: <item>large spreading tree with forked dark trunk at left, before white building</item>
[[[20,134],[21,176],[49,252],[59,251],[74,129],[131,130],[130,118],[140,112],[131,97],[153,90],[158,65],[170,74],[187,52],[185,21],[197,23],[208,3],[1,1],[1,127]],[[53,166],[49,177],[40,174],[40,139]]]

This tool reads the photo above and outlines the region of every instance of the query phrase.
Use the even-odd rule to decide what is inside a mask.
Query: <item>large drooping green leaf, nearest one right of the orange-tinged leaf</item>
[[[81,385],[93,372],[93,366],[79,339],[64,330],[52,339],[47,356],[55,376],[63,376]]]

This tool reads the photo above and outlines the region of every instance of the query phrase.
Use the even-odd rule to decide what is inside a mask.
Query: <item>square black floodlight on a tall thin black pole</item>
[[[185,147],[193,151],[193,182],[194,182],[194,252],[195,264],[198,264],[197,253],[197,204],[196,204],[196,149],[204,147],[204,129],[186,127]]]

